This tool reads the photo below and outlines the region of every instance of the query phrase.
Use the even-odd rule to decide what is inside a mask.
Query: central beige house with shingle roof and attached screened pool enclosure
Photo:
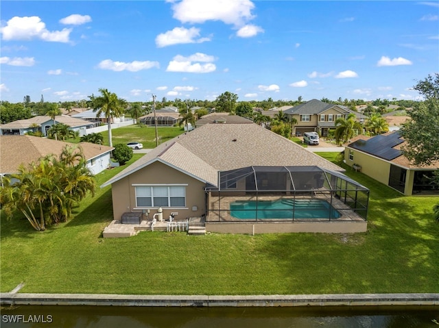
[[[300,145],[251,122],[232,123],[231,117],[164,142],[106,181],[102,187],[112,186],[113,222],[126,214],[147,220],[160,213],[204,218],[206,229],[217,232],[366,231],[367,188]],[[275,210],[274,217],[264,217],[269,211],[261,208],[241,219],[236,213],[243,210],[230,210],[254,201],[289,207],[323,201],[340,216],[315,212],[318,219],[311,223],[308,216],[295,216],[299,205],[296,212]]]

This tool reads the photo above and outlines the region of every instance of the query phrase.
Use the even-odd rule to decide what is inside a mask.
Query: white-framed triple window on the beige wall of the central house
[[[136,188],[137,207],[185,207],[186,186],[140,185]]]

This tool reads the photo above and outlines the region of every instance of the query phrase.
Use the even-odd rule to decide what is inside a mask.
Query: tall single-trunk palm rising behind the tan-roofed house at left
[[[123,114],[123,108],[126,105],[125,99],[120,99],[117,94],[109,92],[107,89],[100,88],[99,92],[101,95],[95,97],[94,94],[89,96],[91,100],[91,105],[93,112],[96,113],[96,117],[104,114],[108,125],[108,142],[110,147],[112,147],[112,136],[111,136],[111,121],[112,118],[121,116]]]

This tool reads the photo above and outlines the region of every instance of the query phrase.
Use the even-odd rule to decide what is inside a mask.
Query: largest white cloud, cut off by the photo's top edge
[[[182,0],[172,1],[173,17],[182,23],[204,23],[222,21],[242,26],[252,20],[254,4],[250,0]]]

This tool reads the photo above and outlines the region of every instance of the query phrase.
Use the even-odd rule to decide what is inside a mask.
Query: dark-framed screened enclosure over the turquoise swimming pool
[[[248,166],[206,188],[206,222],[365,221],[368,188],[318,166]]]

